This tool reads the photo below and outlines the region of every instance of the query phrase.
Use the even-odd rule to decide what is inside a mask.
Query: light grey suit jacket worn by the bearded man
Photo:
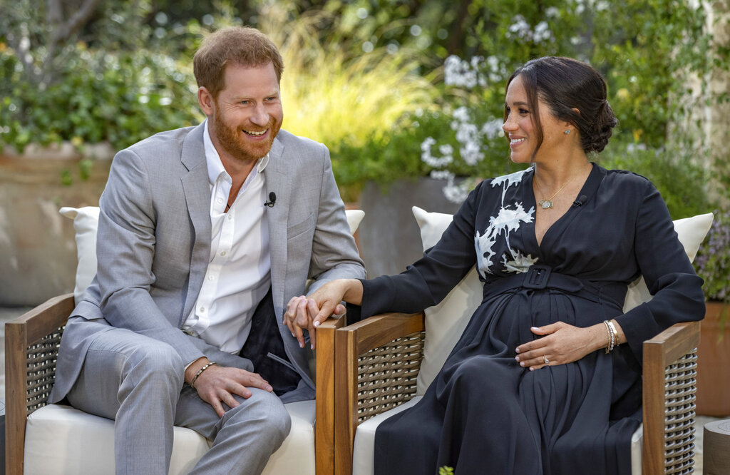
[[[115,156],[99,202],[96,278],[66,326],[51,402],[69,392],[94,335],[110,326],[169,343],[184,362],[208,356],[204,342],[180,330],[210,259],[203,133],[203,124],[162,132]],[[277,196],[266,213],[274,310],[281,322],[288,300],[305,292],[307,278],[316,278],[312,292],[331,279],[365,272],[324,145],[280,131],[264,178],[266,194]],[[310,350],[300,349],[288,329],[277,325],[302,377],[301,398],[310,398]]]

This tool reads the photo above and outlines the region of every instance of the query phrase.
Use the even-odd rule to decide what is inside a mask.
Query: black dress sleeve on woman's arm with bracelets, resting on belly
[[[672,324],[704,318],[704,294],[702,278],[696,275],[677,238],[669,210],[650,182],[636,223],[634,251],[653,298],[618,316],[616,321],[640,364],[645,340]]]

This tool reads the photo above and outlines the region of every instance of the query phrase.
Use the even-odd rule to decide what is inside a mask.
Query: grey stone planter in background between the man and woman
[[[360,207],[365,217],[358,229],[358,244],[369,278],[406,270],[423,256],[420,229],[411,211],[456,213],[458,204],[443,194],[445,180],[396,180],[386,186],[366,183]]]

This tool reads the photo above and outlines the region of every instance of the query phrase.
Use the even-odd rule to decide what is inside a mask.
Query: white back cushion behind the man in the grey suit
[[[74,220],[76,231],[76,253],[79,261],[76,267],[76,284],[74,286],[74,300],[79,303],[86,287],[96,276],[96,228],[99,225],[99,208],[85,206],[84,208],[64,207],[58,210],[66,218]],[[345,210],[350,233],[355,234],[365,212],[363,210]]]

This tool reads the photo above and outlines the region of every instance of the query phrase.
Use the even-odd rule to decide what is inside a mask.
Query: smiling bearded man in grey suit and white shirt
[[[207,120],[115,156],[50,397],[116,420],[118,473],[166,474],[173,425],[213,441],[193,473],[260,473],[283,402],[314,397],[285,306],[311,320],[307,278],[364,276],[326,147],[280,131],[274,44],[224,28],[193,64]]]

